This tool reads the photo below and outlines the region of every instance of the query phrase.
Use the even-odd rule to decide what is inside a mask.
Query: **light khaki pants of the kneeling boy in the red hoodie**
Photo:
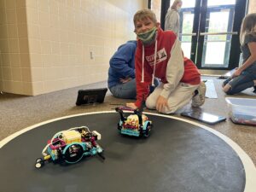
[[[156,87],[152,94],[150,94],[146,100],[146,106],[149,109],[156,108],[156,101],[158,96],[160,96],[164,84],[160,84]],[[177,88],[172,91],[168,96],[168,108],[164,108],[160,113],[175,113],[178,109],[183,108],[188,104],[192,96],[194,96],[194,91],[199,87],[200,84],[184,84],[179,83]]]

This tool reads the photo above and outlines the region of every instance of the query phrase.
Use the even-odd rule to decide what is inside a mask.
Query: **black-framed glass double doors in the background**
[[[174,0],[151,0],[149,8],[164,27],[165,15]],[[156,7],[159,6],[159,8]],[[245,15],[243,0],[183,0],[180,41],[183,53],[201,69],[232,69],[240,59],[239,33]]]

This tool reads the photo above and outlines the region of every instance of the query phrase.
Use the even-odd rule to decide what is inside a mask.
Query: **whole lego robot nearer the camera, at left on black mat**
[[[43,158],[36,160],[36,168],[44,166],[45,161],[55,163],[66,162],[73,164],[82,160],[84,156],[98,154],[104,160],[102,147],[96,143],[101,140],[101,134],[90,131],[87,126],[74,127],[67,131],[60,131],[52,137],[42,151]]]

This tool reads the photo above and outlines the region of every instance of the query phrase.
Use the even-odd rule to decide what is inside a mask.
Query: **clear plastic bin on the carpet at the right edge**
[[[256,99],[226,97],[234,123],[256,126]]]

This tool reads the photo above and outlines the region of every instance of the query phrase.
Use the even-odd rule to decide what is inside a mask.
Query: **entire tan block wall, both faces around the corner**
[[[108,78],[146,0],[0,0],[0,90],[35,96]]]

